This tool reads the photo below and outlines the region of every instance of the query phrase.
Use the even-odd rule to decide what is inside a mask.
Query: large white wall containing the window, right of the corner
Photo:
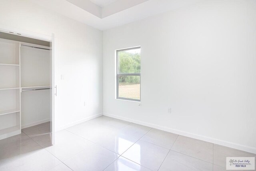
[[[209,0],[104,31],[104,115],[256,153],[255,16]],[[115,49],[139,45],[141,106],[115,99]]]

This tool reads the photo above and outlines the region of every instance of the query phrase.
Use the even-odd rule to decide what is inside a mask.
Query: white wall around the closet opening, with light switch
[[[29,0],[1,0],[0,4],[1,27],[55,34],[56,130],[101,114],[102,31]]]

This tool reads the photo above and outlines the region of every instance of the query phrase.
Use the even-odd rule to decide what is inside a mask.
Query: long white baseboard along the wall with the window
[[[214,138],[210,138],[210,137],[200,136],[200,135],[197,135],[197,134],[192,134],[192,133],[189,133],[189,132],[184,132],[184,131],[180,131],[180,130],[176,130],[176,129],[172,129],[172,128],[158,126],[158,125],[155,125],[155,124],[150,124],[150,123],[147,123],[147,122],[142,122],[142,121],[139,121],[139,120],[134,120],[134,119],[130,119],[130,118],[122,117],[122,116],[117,116],[117,115],[113,115],[113,114],[103,113],[103,115],[104,116],[109,116],[109,117],[112,117],[112,118],[116,118],[116,119],[120,119],[120,120],[124,120],[124,121],[128,121],[128,122],[132,122],[132,123],[135,123],[135,124],[140,124],[140,125],[143,125],[143,126],[156,128],[158,130],[171,132],[171,133],[174,133],[174,134],[179,134],[181,136],[195,138],[195,139],[198,139],[198,140],[202,140],[202,141],[206,141],[206,142],[210,142],[210,143],[215,143],[215,144],[218,144],[218,145],[223,145],[223,146],[226,146],[226,147],[230,147],[230,148],[234,148],[234,149],[238,149],[238,150],[242,150],[242,151],[246,151],[246,152],[249,152],[249,153],[256,154],[256,148],[254,148],[254,147],[249,147],[249,146],[245,146],[245,145],[241,145],[241,144],[237,144],[237,143],[218,140],[218,139],[214,139]]]

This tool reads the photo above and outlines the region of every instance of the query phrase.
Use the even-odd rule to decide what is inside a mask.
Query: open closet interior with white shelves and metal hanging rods
[[[50,122],[52,110],[50,42],[1,35],[0,140]]]

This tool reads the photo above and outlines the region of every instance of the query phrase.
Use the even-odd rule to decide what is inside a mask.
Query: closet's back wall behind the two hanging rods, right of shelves
[[[50,51],[21,46],[20,74],[22,90],[43,89],[21,92],[21,128],[49,122]]]

